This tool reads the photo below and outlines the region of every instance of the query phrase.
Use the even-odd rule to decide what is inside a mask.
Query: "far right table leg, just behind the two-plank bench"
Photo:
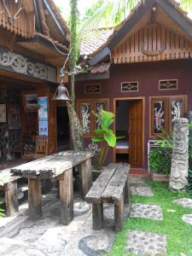
[[[91,159],[82,162],[80,170],[82,178],[82,196],[84,199],[92,185]]]

